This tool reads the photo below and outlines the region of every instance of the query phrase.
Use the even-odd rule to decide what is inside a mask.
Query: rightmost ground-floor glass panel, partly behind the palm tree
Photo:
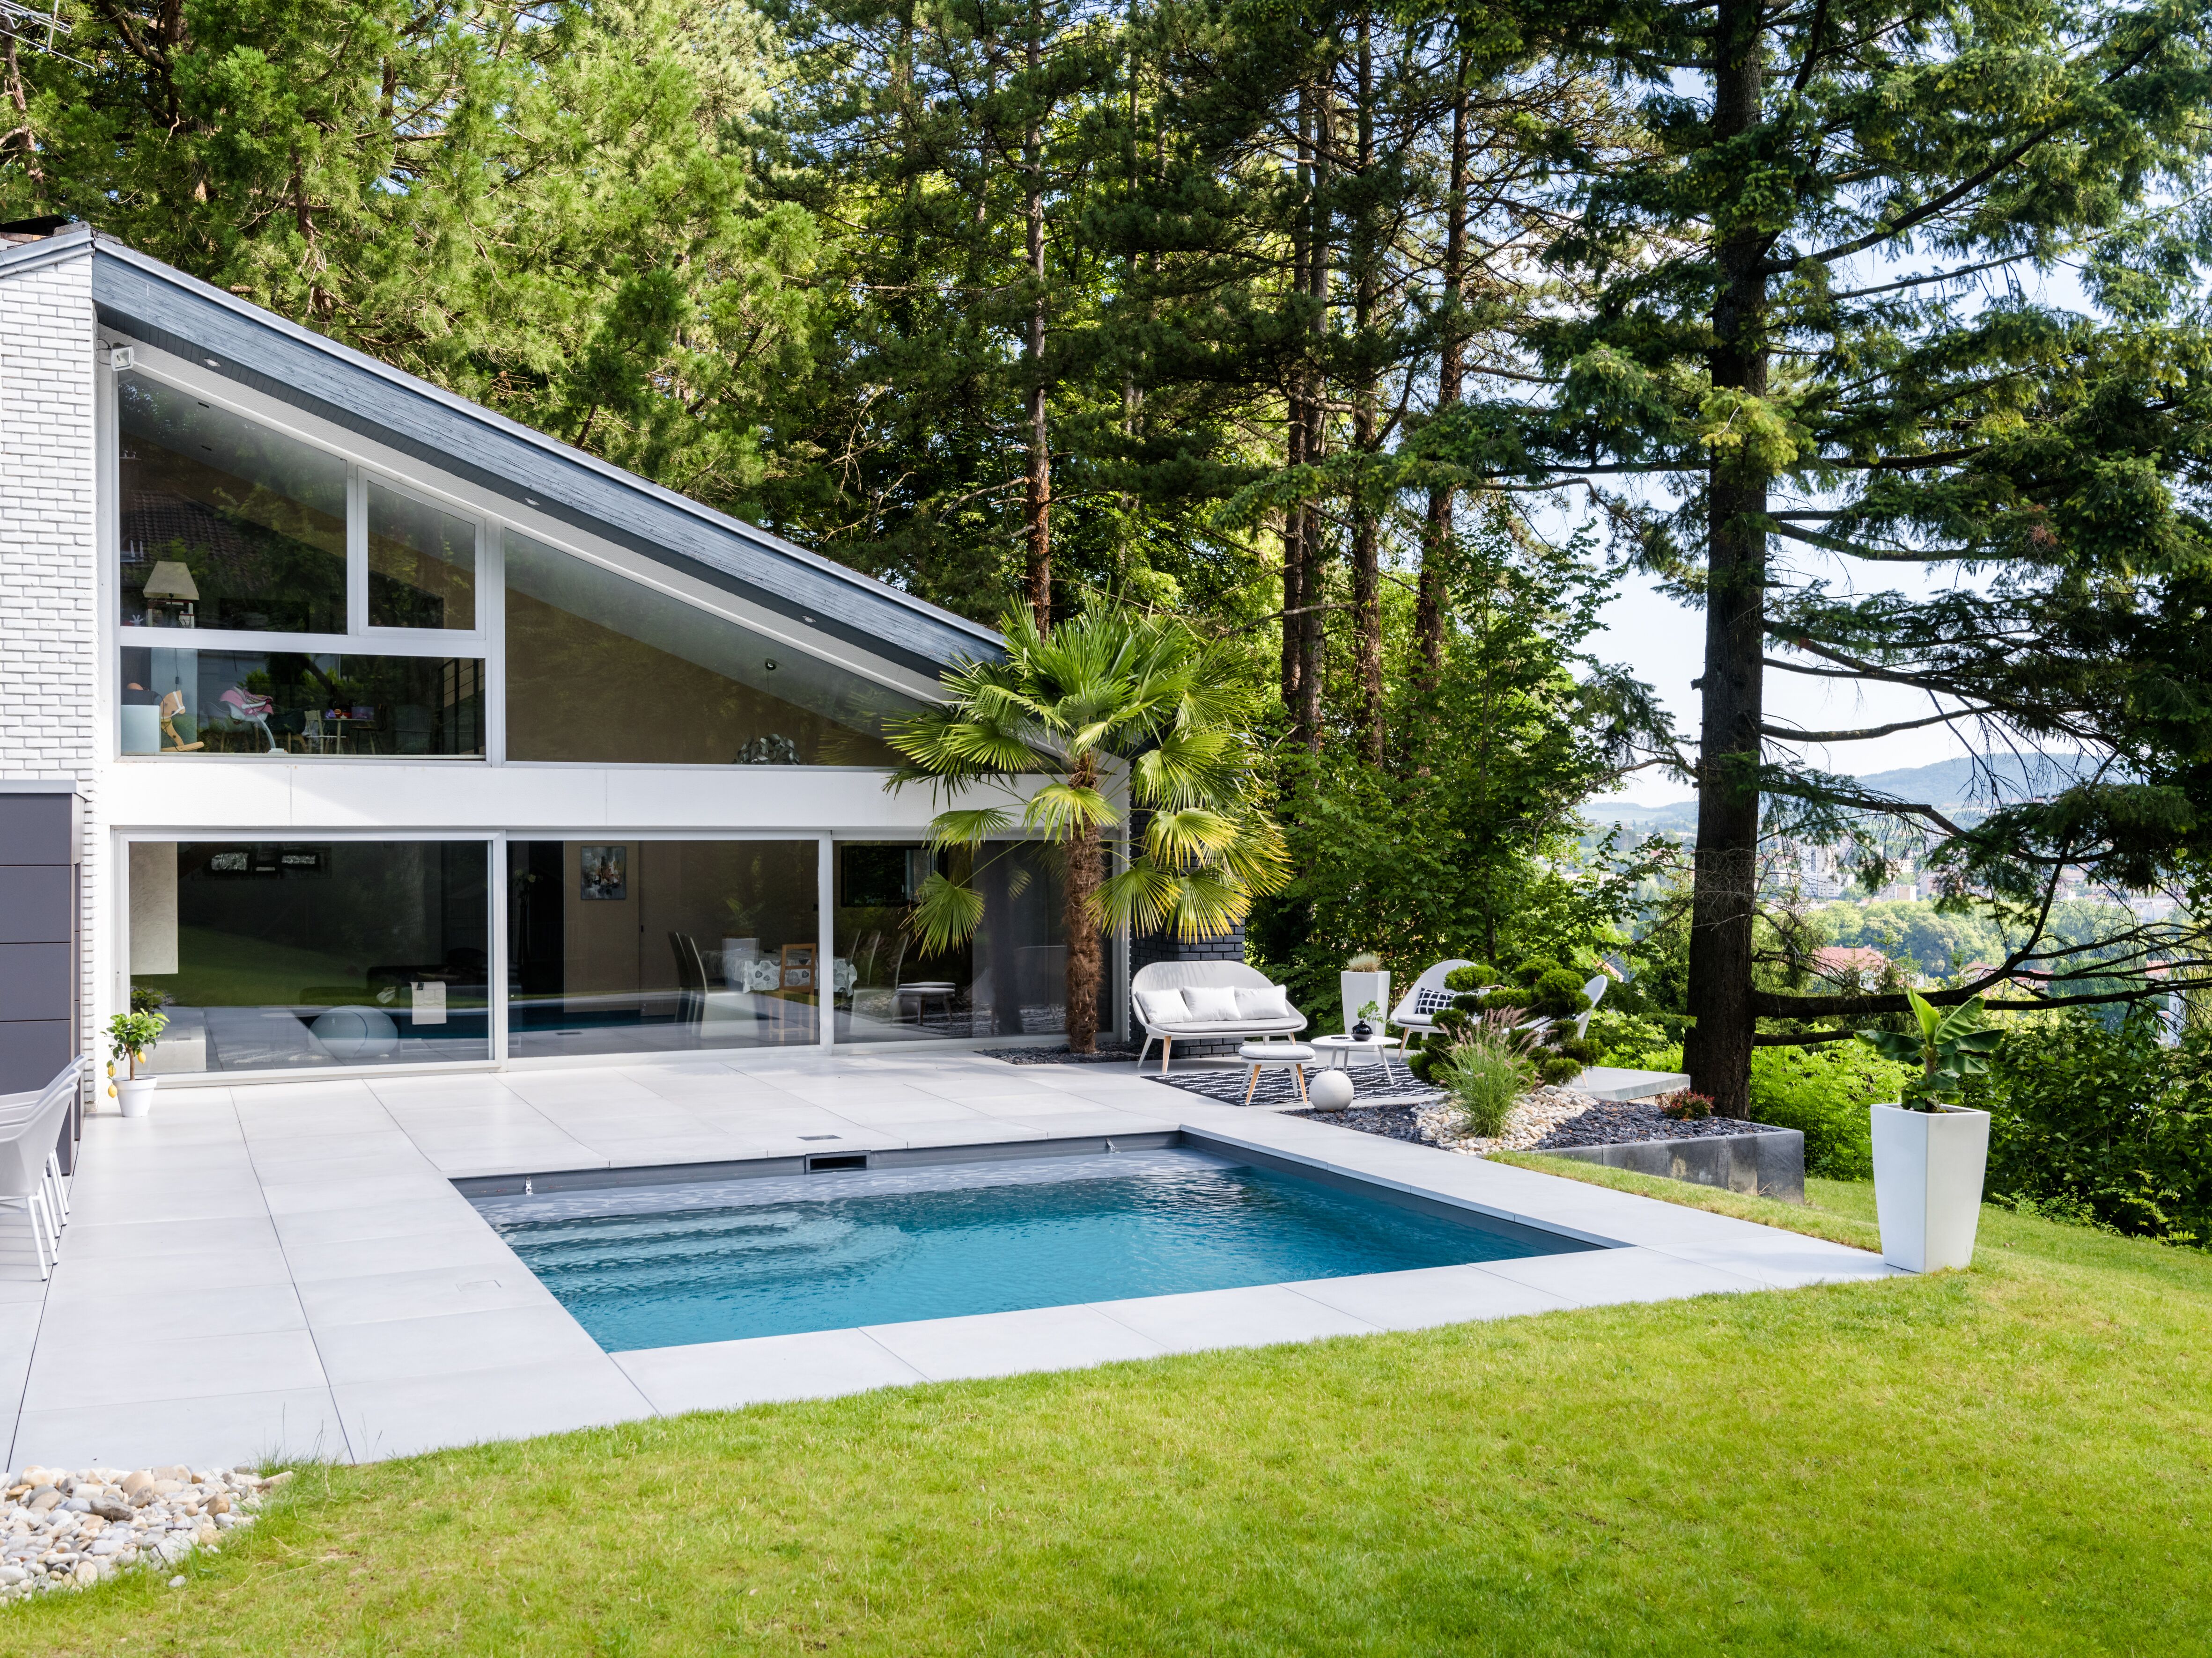
[[[1068,1028],[1068,953],[1060,878],[1037,847],[987,847],[971,875],[964,849],[838,842],[836,1041],[1044,1037]],[[931,869],[973,880],[982,926],[942,955],[909,931]]]

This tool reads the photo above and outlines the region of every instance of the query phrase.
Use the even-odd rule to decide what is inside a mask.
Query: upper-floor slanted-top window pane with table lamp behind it
[[[345,462],[115,376],[122,619],[345,632]]]

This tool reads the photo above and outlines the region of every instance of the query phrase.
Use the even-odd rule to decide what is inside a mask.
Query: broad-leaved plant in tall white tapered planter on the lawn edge
[[[1905,993],[1909,1030],[1860,1030],[1882,1059],[1918,1063],[1920,1074],[1893,1105],[1871,1105],[1874,1209],[1882,1225],[1882,1260],[1927,1273],[1973,1262],[1982,1222],[1982,1176],[1989,1172],[1989,1112],[1958,1105],[1969,1077],[1980,1077],[2004,1032],[1989,1026],[1982,997],[1955,1008],[1929,1006]]]

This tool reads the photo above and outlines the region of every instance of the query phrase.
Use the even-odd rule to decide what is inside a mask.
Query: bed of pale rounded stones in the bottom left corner
[[[252,1468],[24,1468],[0,1497],[0,1603],[100,1583],[124,1567],[175,1567],[252,1525],[292,1475]],[[184,1583],[181,1576],[170,1585]]]

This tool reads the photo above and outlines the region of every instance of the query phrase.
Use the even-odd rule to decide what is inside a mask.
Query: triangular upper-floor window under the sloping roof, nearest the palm
[[[911,701],[507,533],[507,754],[617,765],[898,765]]]

